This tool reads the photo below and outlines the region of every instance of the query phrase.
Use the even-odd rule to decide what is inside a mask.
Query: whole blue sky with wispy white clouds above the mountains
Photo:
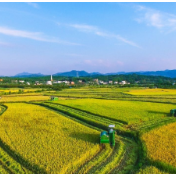
[[[0,75],[176,69],[175,9],[175,2],[0,2]]]

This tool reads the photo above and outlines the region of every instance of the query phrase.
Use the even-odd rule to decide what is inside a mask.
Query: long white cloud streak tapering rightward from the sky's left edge
[[[10,28],[1,27],[1,26],[0,26],[0,34],[9,35],[13,37],[28,38],[28,39],[43,41],[43,42],[59,43],[59,44],[65,44],[65,45],[79,45],[77,43],[71,43],[71,42],[62,41],[53,37],[45,36],[43,33],[40,33],[40,32],[28,32],[28,31],[10,29]]]

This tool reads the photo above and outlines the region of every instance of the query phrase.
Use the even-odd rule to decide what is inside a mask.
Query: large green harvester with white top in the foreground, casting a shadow
[[[115,125],[109,125],[108,132],[103,131],[100,135],[100,144],[110,144],[115,147]]]

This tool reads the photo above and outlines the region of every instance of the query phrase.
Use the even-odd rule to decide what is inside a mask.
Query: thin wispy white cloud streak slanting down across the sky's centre
[[[109,33],[109,32],[103,32],[101,29],[99,29],[96,26],[84,25],[84,24],[83,25],[82,24],[71,24],[69,26],[73,27],[73,28],[75,28],[75,29],[77,29],[81,32],[89,32],[89,33],[93,33],[93,34],[101,36],[101,37],[114,38],[114,39],[120,40],[120,41],[122,41],[126,44],[129,44],[131,46],[141,48],[136,43],[134,43],[132,41],[129,41],[129,40],[123,38],[120,35],[112,34],[112,33]]]

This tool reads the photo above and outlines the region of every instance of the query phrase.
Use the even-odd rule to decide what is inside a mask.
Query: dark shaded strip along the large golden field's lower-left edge
[[[0,139],[0,147],[11,156],[16,162],[18,162],[22,167],[32,171],[34,174],[46,174],[46,171],[40,168],[38,165],[30,164],[29,161],[25,160],[17,152],[13,151],[7,144],[5,144]]]

